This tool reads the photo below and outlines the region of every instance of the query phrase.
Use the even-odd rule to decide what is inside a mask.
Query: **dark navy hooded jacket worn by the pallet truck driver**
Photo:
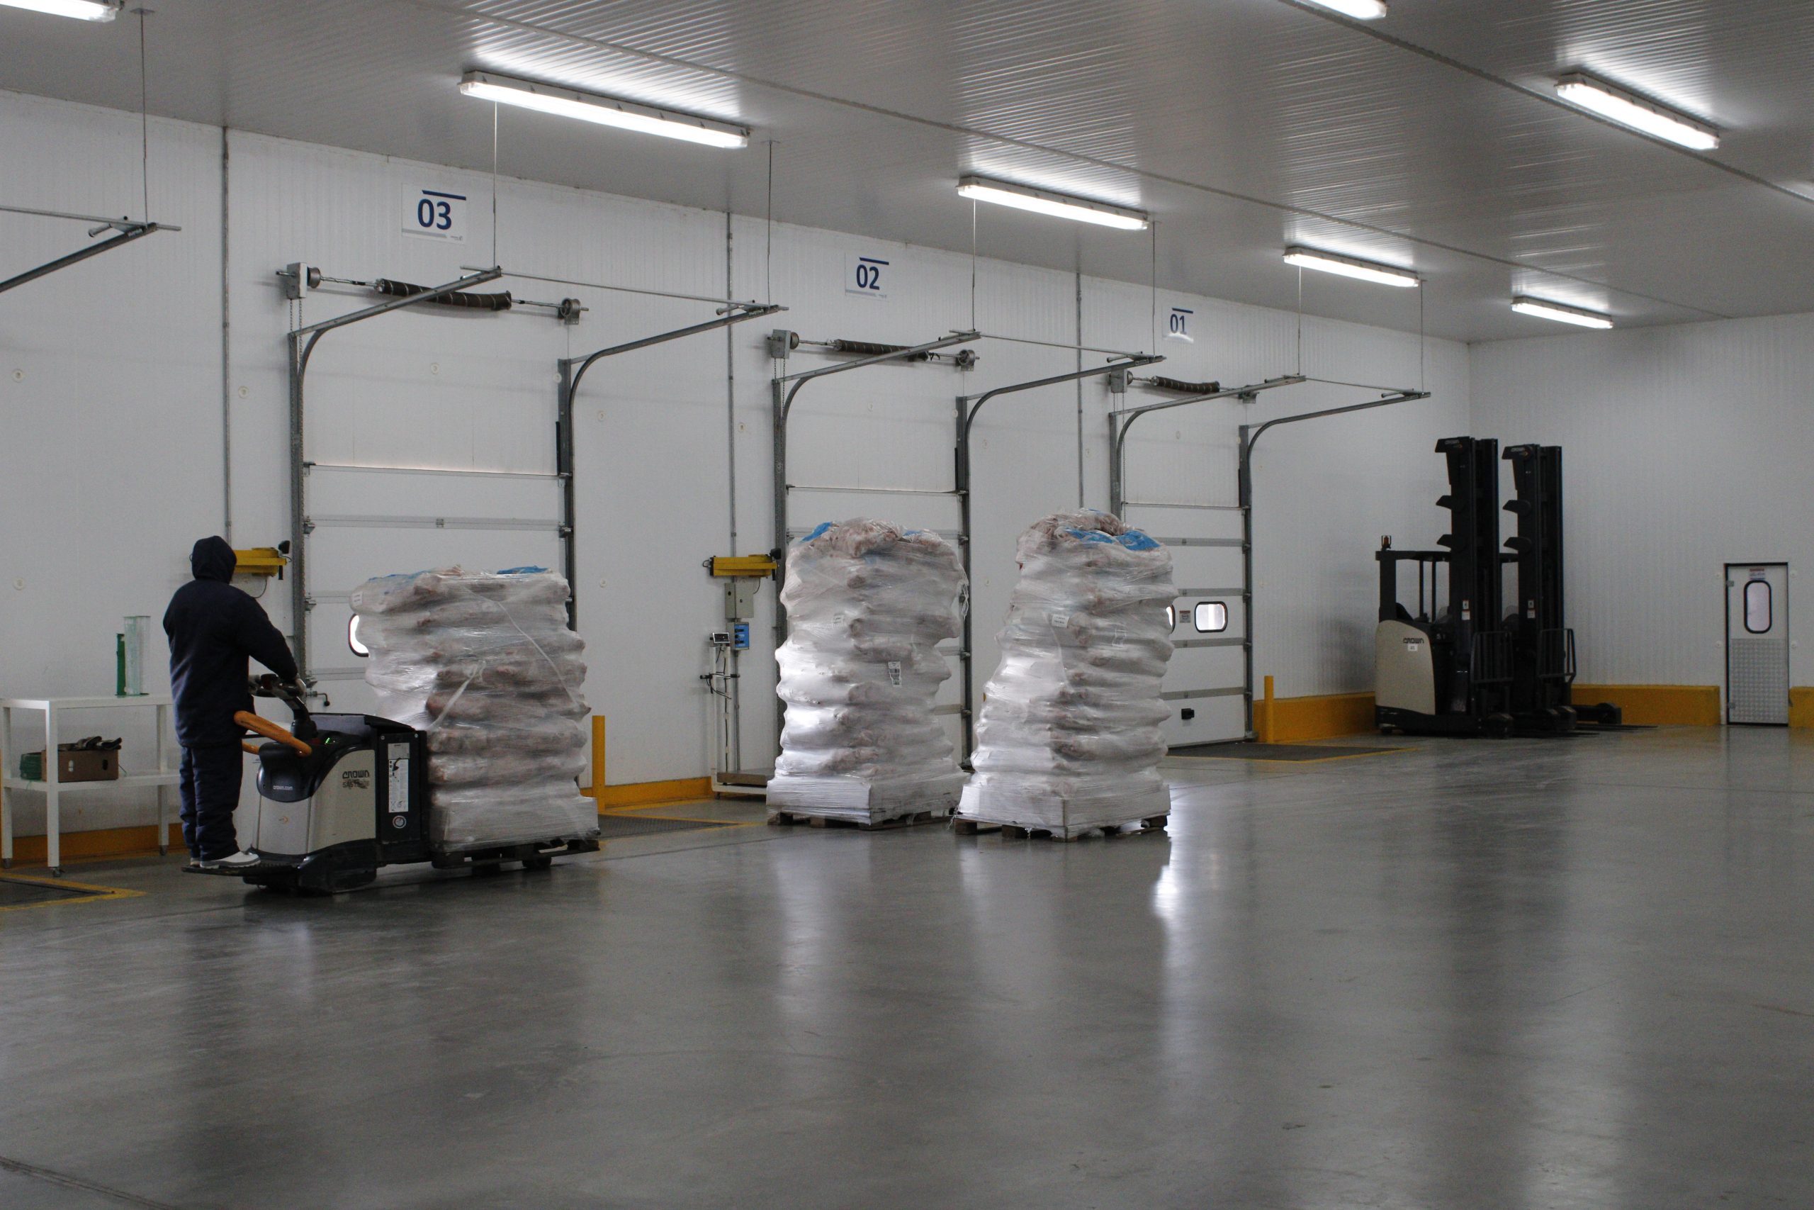
[[[176,742],[183,747],[238,744],[236,709],[252,709],[247,657],[279,680],[296,680],[290,644],[256,600],[230,584],[238,559],[219,537],[205,537],[189,553],[196,579],[176,590],[163,611],[171,640],[171,695],[176,698]]]

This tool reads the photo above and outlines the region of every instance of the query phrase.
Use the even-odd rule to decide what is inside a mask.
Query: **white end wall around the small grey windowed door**
[[[1723,564],[1814,566],[1814,316],[1471,352],[1475,430],[1562,446],[1582,680],[1723,686]],[[1809,633],[1799,584],[1790,581],[1792,639]],[[1794,684],[1814,678],[1809,659],[1790,651]]]

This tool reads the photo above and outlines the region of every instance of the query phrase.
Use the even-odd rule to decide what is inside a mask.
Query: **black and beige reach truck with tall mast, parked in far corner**
[[[1616,706],[1575,706],[1575,631],[1562,613],[1562,448],[1509,446],[1518,532],[1498,544],[1498,443],[1446,437],[1446,550],[1380,546],[1373,635],[1375,722],[1422,735],[1567,735],[1620,726]],[[1399,602],[1399,564],[1417,566],[1417,613]],[[1504,611],[1504,566],[1515,606]],[[1428,584],[1428,590],[1426,590]],[[1439,584],[1446,591],[1439,591]]]

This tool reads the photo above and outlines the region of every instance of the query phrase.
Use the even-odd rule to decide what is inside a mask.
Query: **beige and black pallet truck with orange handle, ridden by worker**
[[[303,697],[276,677],[252,682],[258,697],[290,707],[292,727],[241,711],[234,715],[263,744],[258,756],[258,824],[247,851],[258,865],[194,869],[245,878],[278,891],[336,893],[363,887],[383,865],[430,862],[435,869],[502,862],[548,869],[568,853],[597,853],[599,831],[530,844],[448,851],[434,842],[428,795],[428,737],[374,715],[310,715]]]

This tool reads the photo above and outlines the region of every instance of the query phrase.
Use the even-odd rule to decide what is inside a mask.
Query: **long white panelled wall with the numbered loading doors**
[[[129,114],[0,94],[5,201],[80,210],[132,209],[138,127]],[[274,270],[305,261],[332,276],[390,276],[435,285],[484,265],[492,189],[483,172],[356,154],[232,132],[229,138],[227,307],[232,539],[288,537],[285,332],[297,319]],[[7,593],[0,691],[73,693],[111,684],[116,619],[160,613],[185,579],[194,537],[221,528],[221,132],[152,123],[152,236],[69,274],[0,299],[0,533]],[[405,236],[421,187],[463,192],[461,245]],[[809,339],[920,343],[972,323],[1027,341],[1070,343],[1079,279],[858,236],[796,229],[682,207],[586,194],[519,180],[497,185],[497,258],[524,276],[481,288],[590,308],[575,327],[519,308],[502,316],[441,310],[385,316],[328,336],[308,379],[308,454],[323,463],[553,468],[555,363],[713,314],[709,301],[602,290],[597,283],[773,298],[791,310],[599,363],[575,403],[577,559],[588,697],[608,718],[608,780],[706,771],[706,635],[722,628],[722,590],[700,562],[764,551],[771,533],[771,394],[767,328]],[[729,229],[729,249],[727,249]],[[36,263],[80,241],[0,216],[7,258]],[[889,261],[887,298],[847,292],[854,256]],[[974,274],[974,301],[972,301]],[[1154,298],[1137,285],[1081,279],[1081,336],[1108,348],[1154,346]],[[370,296],[330,287],[301,321],[363,307]],[[1195,341],[1161,341],[1163,372],[1250,381],[1297,361],[1290,314],[1161,294],[1161,316],[1188,305]],[[974,307],[974,310],[972,310]],[[876,366],[809,386],[796,408],[789,472],[796,483],[952,484],[954,397],[1070,372],[1070,348],[985,339],[970,372],[949,365]],[[1281,430],[1261,455],[1261,671],[1281,693],[1360,689],[1373,610],[1371,550],[1382,532],[1415,532],[1440,492],[1435,437],[1466,428],[1466,350],[1431,343],[1437,399],[1330,426]],[[1085,354],[1099,365],[1101,354]],[[787,368],[825,365],[800,350]],[[1415,381],[1417,341],[1355,325],[1304,327],[1306,368],[1330,377]],[[15,377],[15,370],[18,376]],[[1346,401],[1353,392],[1299,388],[1255,408],[1273,415]],[[976,428],[978,688],[996,662],[996,631],[1014,586],[1014,539],[1039,515],[1083,499],[1107,504],[1108,394],[1099,381],[1003,395]],[[1234,424],[1217,405],[1156,421],[1130,455],[1165,499],[1232,493]],[[544,481],[424,481],[317,470],[319,513],[541,515]],[[735,510],[733,510],[735,501]],[[947,497],[802,495],[795,524],[854,513],[952,528]],[[1433,528],[1433,519],[1429,526]],[[312,582],[343,591],[366,575],[428,562],[551,562],[548,535],[357,530],[323,541]],[[328,582],[332,579],[332,584]],[[25,588],[13,588],[24,581]],[[288,626],[288,584],[265,604]],[[773,737],[771,593],[744,660],[746,764],[769,760]],[[312,626],[323,664],[343,662],[345,608]],[[328,651],[332,649],[332,660]],[[163,651],[152,657],[163,684]],[[330,684],[336,706],[363,706],[361,688]],[[947,700],[956,695],[956,680]],[[107,724],[100,724],[105,727]],[[143,813],[98,815],[131,822]],[[82,816],[76,816],[78,825]]]

